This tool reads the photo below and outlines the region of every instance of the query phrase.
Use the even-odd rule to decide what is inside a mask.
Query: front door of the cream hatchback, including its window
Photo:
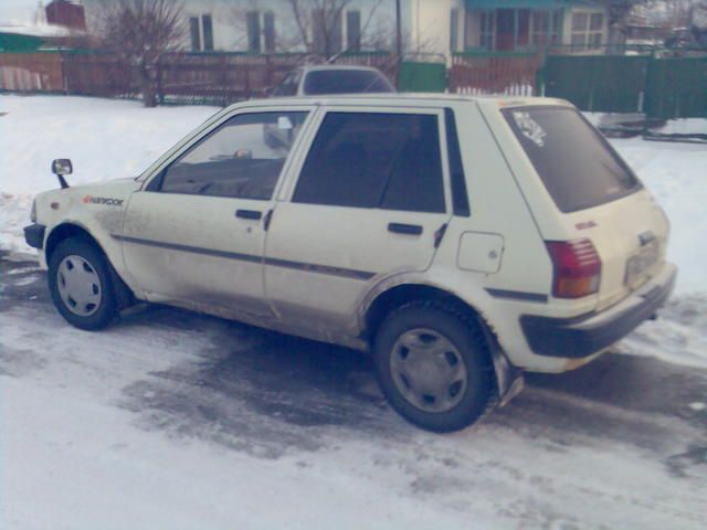
[[[133,194],[118,237],[147,299],[271,315],[264,221],[308,112],[250,109],[226,117]]]

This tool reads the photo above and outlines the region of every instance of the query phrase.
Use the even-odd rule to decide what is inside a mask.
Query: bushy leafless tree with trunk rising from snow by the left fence
[[[184,36],[182,4],[176,0],[102,0],[98,28],[106,47],[138,74],[146,107],[157,105],[157,63]]]

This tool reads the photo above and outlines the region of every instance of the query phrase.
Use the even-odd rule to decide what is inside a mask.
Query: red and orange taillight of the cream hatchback
[[[552,296],[581,298],[599,290],[601,258],[591,241],[546,241],[545,244],[555,267]]]

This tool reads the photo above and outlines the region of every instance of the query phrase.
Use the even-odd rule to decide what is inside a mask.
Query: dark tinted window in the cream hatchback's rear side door
[[[444,212],[437,117],[327,114],[293,202]]]

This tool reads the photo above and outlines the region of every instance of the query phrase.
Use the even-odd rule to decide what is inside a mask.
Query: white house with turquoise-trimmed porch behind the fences
[[[83,3],[87,15],[99,9],[98,0]],[[309,0],[186,0],[182,47],[192,52],[308,51],[326,55],[394,50],[395,0],[342,3],[344,9],[334,12],[315,9],[321,3]],[[400,0],[404,51],[449,59],[452,52],[528,52],[562,45],[574,53],[600,53],[608,39],[609,3]]]

